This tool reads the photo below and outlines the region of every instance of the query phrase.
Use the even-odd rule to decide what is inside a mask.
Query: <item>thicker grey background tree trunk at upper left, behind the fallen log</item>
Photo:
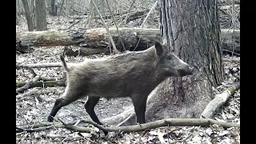
[[[47,30],[46,23],[46,0],[35,1],[37,30]]]

